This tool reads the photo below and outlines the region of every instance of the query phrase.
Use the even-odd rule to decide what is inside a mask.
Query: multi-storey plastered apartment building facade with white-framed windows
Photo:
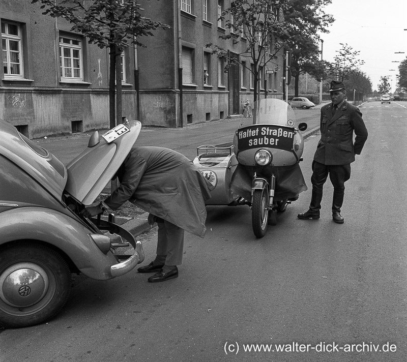
[[[145,126],[185,127],[242,112],[253,100],[245,40],[218,21],[230,0],[140,0],[146,16],[168,24],[146,47],[122,55],[123,115]],[[109,127],[107,49],[71,32],[61,18],[42,15],[26,0],[0,0],[3,68],[0,118],[30,138]],[[206,44],[218,44],[240,65],[224,72],[224,59]],[[260,94],[282,98],[283,53],[262,73]],[[267,80],[267,82],[264,82]],[[265,89],[264,84],[267,84]]]

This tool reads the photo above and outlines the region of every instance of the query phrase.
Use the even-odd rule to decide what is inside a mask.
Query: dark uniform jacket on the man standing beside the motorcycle
[[[324,165],[346,165],[360,155],[367,139],[367,129],[358,107],[344,101],[332,115],[332,103],[321,108],[321,139],[314,160]],[[353,140],[354,132],[356,135]]]

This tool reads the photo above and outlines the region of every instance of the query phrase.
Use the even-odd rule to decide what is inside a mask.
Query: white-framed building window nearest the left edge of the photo
[[[2,21],[4,76],[23,78],[21,27]]]

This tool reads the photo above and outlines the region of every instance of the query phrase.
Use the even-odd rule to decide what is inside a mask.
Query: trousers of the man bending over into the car
[[[166,255],[165,265],[181,265],[184,254],[184,229],[157,217],[157,255]]]

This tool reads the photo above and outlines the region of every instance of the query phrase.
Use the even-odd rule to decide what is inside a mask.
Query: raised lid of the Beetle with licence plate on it
[[[100,137],[97,131],[91,136],[88,148],[68,165],[68,182],[65,191],[85,205],[95,201],[124,162],[137,140],[141,123],[130,121],[130,132],[122,134],[111,143]]]

